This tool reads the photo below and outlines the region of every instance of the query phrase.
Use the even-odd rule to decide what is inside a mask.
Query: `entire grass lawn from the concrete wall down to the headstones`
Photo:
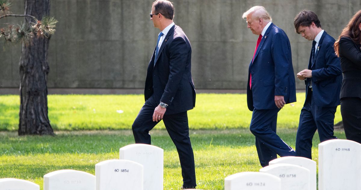
[[[297,98],[278,116],[277,133],[292,147],[304,93],[297,93]],[[142,95],[49,95],[55,136],[18,136],[18,102],[18,96],[0,96],[0,178],[29,180],[43,190],[44,174],[60,169],[95,174],[98,162],[118,159],[119,148],[134,143],[131,124],[144,99]],[[225,177],[261,168],[248,129],[251,114],[244,94],[197,94],[196,108],[188,111],[197,189],[223,190]],[[335,123],[339,121],[338,109]],[[150,133],[152,144],[164,149],[164,190],[179,189],[182,177],[174,144],[162,123]],[[345,139],[343,131],[335,135]],[[312,152],[316,162],[318,143],[316,133]]]

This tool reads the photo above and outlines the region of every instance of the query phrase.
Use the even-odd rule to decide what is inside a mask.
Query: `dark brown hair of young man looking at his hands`
[[[300,34],[298,31],[298,28],[300,26],[311,26],[312,22],[317,26],[317,28],[321,28],[321,23],[316,13],[310,10],[303,10],[299,12],[295,17],[295,21],[293,21],[293,25],[295,25],[296,33]]]

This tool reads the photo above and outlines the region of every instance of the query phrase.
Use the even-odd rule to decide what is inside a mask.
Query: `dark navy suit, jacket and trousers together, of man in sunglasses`
[[[191,75],[191,52],[186,34],[179,26],[172,26],[159,48],[158,56],[155,57],[155,50],[153,52],[145,80],[145,103],[132,125],[135,143],[151,144],[149,131],[158,123],[152,120],[154,110],[159,102],[168,104],[163,122],[178,151],[184,188],[196,186],[187,117],[187,110],[193,109],[196,98]]]

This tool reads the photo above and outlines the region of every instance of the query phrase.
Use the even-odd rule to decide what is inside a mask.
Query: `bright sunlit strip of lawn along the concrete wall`
[[[305,93],[278,114],[278,128],[297,128]],[[49,120],[54,130],[118,130],[131,125],[144,104],[143,95],[49,95]],[[122,113],[118,113],[118,112]],[[0,96],[0,131],[16,131],[19,96]],[[190,129],[248,128],[252,112],[245,94],[197,94],[196,107],[188,111]],[[335,123],[341,121],[338,110]],[[163,122],[156,129],[164,129]]]

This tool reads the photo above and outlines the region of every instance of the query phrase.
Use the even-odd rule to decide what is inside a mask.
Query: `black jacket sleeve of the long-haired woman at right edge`
[[[356,49],[355,44],[352,41],[341,38],[339,43],[339,53],[355,65],[361,67],[361,52]]]

